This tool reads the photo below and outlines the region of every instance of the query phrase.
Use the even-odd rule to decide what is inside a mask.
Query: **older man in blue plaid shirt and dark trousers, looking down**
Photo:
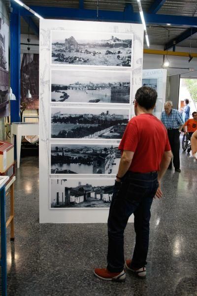
[[[180,173],[180,132],[183,128],[184,121],[181,117],[181,114],[178,110],[172,109],[172,102],[167,101],[164,104],[164,111],[162,112],[162,122],[167,129],[167,135],[169,139],[169,143],[171,146],[171,150],[173,153],[173,165],[175,171]],[[169,164],[168,169],[172,168],[172,161]]]

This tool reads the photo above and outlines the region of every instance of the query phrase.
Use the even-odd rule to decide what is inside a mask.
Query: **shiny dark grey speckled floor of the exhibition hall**
[[[38,159],[22,159],[15,184],[15,242],[7,234],[8,296],[197,296],[197,162],[181,152],[154,200],[147,278],[125,283],[93,274],[106,265],[106,224],[39,224]],[[125,232],[131,257],[133,224]]]

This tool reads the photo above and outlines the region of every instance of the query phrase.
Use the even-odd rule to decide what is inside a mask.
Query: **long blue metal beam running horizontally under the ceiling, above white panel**
[[[13,6],[13,5],[12,5]],[[46,6],[31,6],[31,8],[44,18],[66,18],[74,20],[92,20],[92,21],[115,21],[115,22],[132,22],[141,23],[139,13],[128,14],[127,10],[110,11],[99,10],[99,19],[97,18],[97,10],[93,9],[76,9],[64,7],[46,7]],[[21,15],[32,15],[28,10],[20,7]],[[173,26],[190,26],[197,28],[197,18],[190,16],[165,15],[144,13],[146,24],[152,25],[166,25]]]

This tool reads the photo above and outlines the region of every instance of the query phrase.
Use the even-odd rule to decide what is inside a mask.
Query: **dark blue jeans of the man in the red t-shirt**
[[[122,183],[115,182],[108,217],[107,269],[110,272],[124,268],[124,230],[132,213],[136,236],[131,267],[141,268],[147,264],[150,208],[158,185],[156,172],[127,172]]]

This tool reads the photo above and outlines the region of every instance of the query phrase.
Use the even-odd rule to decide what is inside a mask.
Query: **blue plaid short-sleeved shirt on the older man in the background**
[[[179,128],[184,124],[181,114],[178,110],[172,109],[170,115],[168,116],[165,111],[162,112],[162,122],[166,128]]]

